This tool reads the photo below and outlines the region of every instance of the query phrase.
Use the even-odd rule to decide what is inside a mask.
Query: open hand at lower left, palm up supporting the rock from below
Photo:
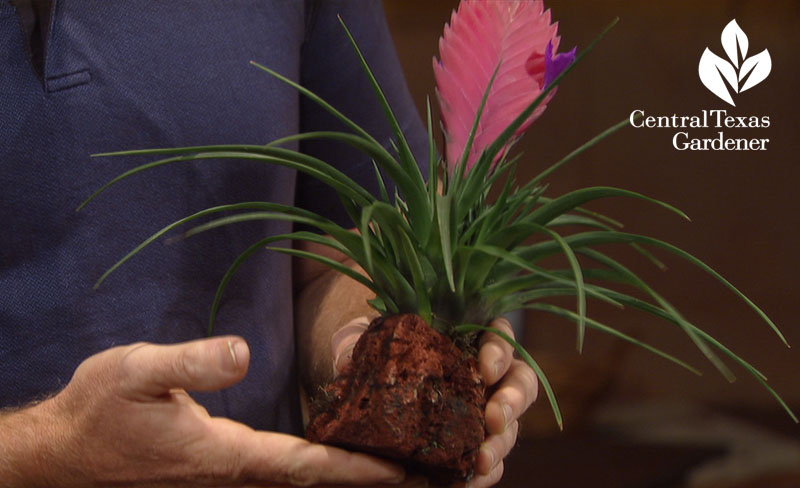
[[[186,393],[241,380],[238,337],[135,344],[88,358],[56,396],[0,414],[2,486],[399,482],[385,461],[213,418]],[[5,484],[8,483],[8,484]]]

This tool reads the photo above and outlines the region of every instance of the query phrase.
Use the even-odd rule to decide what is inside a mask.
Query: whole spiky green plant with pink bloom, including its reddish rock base
[[[346,26],[344,31],[352,41]],[[600,198],[625,197],[656,204],[686,218],[680,210],[639,193],[610,187],[582,188],[555,197],[546,195],[546,177],[626,126],[627,118],[532,180],[517,182],[515,168],[519,160],[510,156],[511,146],[544,111],[563,77],[597,43],[576,56],[575,50],[557,54],[559,41],[557,25],[551,23],[550,13],[544,10],[541,0],[462,1],[440,40],[441,59],[434,58],[446,148],[445,157],[440,158],[429,104],[427,175],[422,174],[386,97],[354,41],[355,52],[393,128],[394,151],[384,148],[367,130],[314,93],[268,67],[253,63],[322,106],[350,131],[302,133],[267,145],[113,153],[166,157],[118,176],[84,205],[111,185],[158,166],[206,159],[249,159],[293,168],[328,184],[338,193],[358,232],[290,205],[270,202],[221,205],[156,232],[109,269],[98,285],[148,244],[201,218],[212,217],[189,230],[187,236],[260,219],[289,220],[315,227],[321,234],[296,231],[267,236],[242,253],[221,280],[211,306],[209,332],[233,274],[249,256],[265,249],[318,261],[368,287],[375,294],[370,303],[380,312],[380,318],[359,339],[352,363],[334,384],[317,395],[308,436],[398,459],[439,481],[468,479],[484,438],[484,385],[474,358],[481,333],[498,334],[513,345],[538,374],[556,420],[559,425],[562,423],[545,373],[513,338],[487,325],[494,317],[513,310],[536,309],[575,322],[579,349],[583,347],[585,329],[590,327],[697,372],[666,352],[591,319],[586,303],[592,298],[644,311],[680,327],[725,377],[733,375],[718,354],[744,367],[796,421],[783,400],[767,385],[763,374],[689,322],[633,271],[597,250],[597,246],[629,245],[632,251],[647,256],[657,265],[660,263],[645,246],[688,260],[744,300],[785,342],[767,315],[691,254],[652,237],[621,232],[618,222],[583,206]],[[370,194],[320,159],[283,147],[288,142],[307,139],[338,141],[364,152],[375,162],[381,194]],[[386,190],[381,171],[394,181],[394,194]],[[492,200],[490,193],[496,186],[498,196]],[[224,217],[216,218],[223,212]],[[358,263],[364,273],[321,255],[271,245],[287,239],[334,249]],[[566,267],[545,264],[545,258],[557,254],[566,258]],[[619,291],[616,285],[625,285],[626,289],[632,286],[639,296]],[[547,301],[565,295],[576,297],[575,310]]]

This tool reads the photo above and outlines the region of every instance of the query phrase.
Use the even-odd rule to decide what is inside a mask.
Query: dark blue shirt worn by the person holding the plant
[[[337,13],[415,152],[425,154],[379,1],[59,0],[41,78],[14,7],[0,3],[0,407],[57,391],[103,349],[203,337],[233,259],[290,230],[284,222],[248,223],[158,242],[92,290],[105,269],[164,225],[250,200],[295,203],[349,225],[324,185],[249,161],[162,167],[75,212],[109,179],[149,160],[93,153],[261,144],[341,128],[250,60],[299,80],[388,146],[388,124]],[[377,193],[363,155],[334,143],[301,149]],[[242,383],[196,398],[212,415],[299,433],[290,259],[266,251],[252,258],[226,293],[215,333],[248,341],[250,370]]]

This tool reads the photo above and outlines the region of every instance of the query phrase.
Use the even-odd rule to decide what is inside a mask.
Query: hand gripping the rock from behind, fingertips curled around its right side
[[[353,346],[368,325],[367,318],[360,317],[331,337],[334,372],[341,371],[350,361]],[[490,326],[514,337],[511,324],[504,318],[495,319]],[[523,361],[514,359],[514,349],[496,334],[483,334],[478,363],[486,385],[497,385],[497,389],[486,404],[489,436],[481,446],[475,477],[467,484],[469,488],[484,488],[500,481],[503,459],[517,441],[517,419],[536,400],[539,387],[533,370]]]

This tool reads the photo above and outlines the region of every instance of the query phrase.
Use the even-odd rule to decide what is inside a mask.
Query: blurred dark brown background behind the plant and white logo
[[[457,3],[384,0],[421,113],[426,97],[435,100],[431,59]],[[724,131],[726,137],[769,138],[767,151],[677,151],[673,129],[627,128],[551,176],[548,193],[616,186],[685,211],[691,222],[638,201],[590,206],[624,222],[626,231],[689,251],[762,307],[794,349],[698,268],[656,252],[668,266],[661,271],[626,249],[609,251],[687,319],[759,368],[800,412],[800,2],[549,0],[546,6],[559,22],[562,51],[581,50],[615,17],[620,22],[567,77],[517,146],[524,153],[521,180],[633,110],[699,115],[726,109],[769,117],[769,128]],[[701,84],[697,65],[706,47],[724,56],[720,34],[734,18],[749,38],[749,55],[769,49],[772,72],[731,107]],[[718,130],[689,132],[715,137]],[[703,376],[592,331],[580,355],[571,323],[527,313],[524,341],[549,373],[565,429],[558,433],[542,395],[522,420],[520,445],[501,486],[800,487],[800,428],[744,369],[729,361],[738,376],[729,384],[671,324],[596,302],[589,303],[589,315],[675,354]]]

